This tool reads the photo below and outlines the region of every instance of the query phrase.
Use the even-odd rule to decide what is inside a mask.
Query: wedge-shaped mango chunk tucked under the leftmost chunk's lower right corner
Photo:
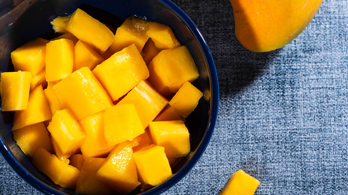
[[[29,93],[27,109],[15,111],[11,130],[34,125],[49,120],[51,117],[51,111],[44,90],[42,90],[42,86],[39,85]]]

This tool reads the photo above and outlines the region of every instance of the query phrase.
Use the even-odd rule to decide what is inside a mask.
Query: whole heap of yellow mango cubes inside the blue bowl
[[[131,16],[115,29],[77,9],[11,53],[1,110],[34,166],[80,194],[161,184],[190,153],[185,118],[203,94],[198,69],[164,24]]]

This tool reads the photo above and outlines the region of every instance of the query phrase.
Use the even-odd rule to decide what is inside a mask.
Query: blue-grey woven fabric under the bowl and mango
[[[281,49],[252,53],[228,0],[173,0],[197,25],[220,85],[216,128],[196,166],[165,192],[218,194],[238,169],[255,195],[348,194],[348,1],[324,0]],[[41,194],[0,155],[0,194]]]

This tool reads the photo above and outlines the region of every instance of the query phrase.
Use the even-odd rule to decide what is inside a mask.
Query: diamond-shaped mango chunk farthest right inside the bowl
[[[195,86],[189,82],[185,82],[179,91],[173,96],[169,105],[175,109],[182,118],[186,118],[189,114],[195,110],[198,105],[199,99],[203,96]]]

